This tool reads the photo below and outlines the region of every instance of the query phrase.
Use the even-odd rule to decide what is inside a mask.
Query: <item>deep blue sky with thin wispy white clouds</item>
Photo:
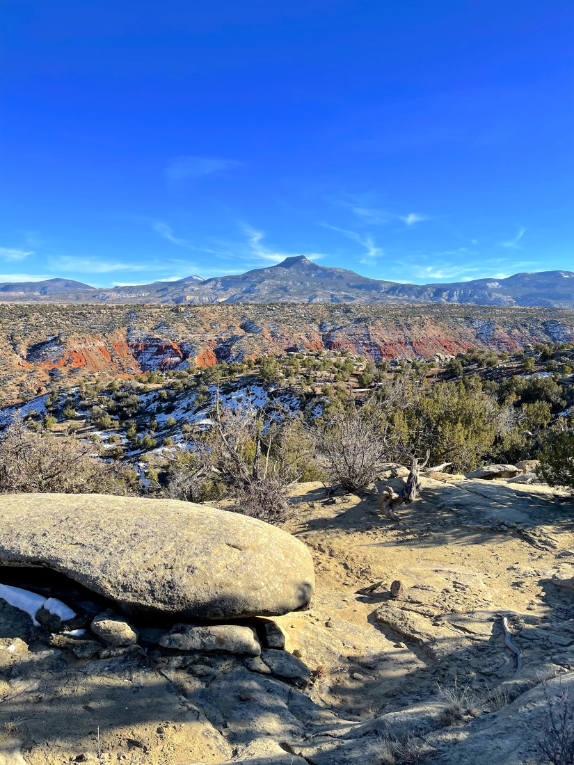
[[[0,15],[0,281],[574,270],[571,0]]]

